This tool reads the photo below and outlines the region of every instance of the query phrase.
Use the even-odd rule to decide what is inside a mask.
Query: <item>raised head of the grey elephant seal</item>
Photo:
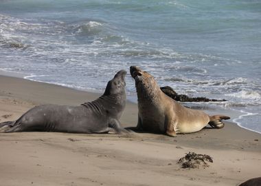
[[[117,95],[117,94],[124,94],[125,95],[125,76],[126,76],[125,70],[120,70],[115,74],[114,78],[108,82],[106,86],[106,90],[104,92],[104,95]]]

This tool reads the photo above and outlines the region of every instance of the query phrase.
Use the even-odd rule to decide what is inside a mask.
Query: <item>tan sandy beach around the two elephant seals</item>
[[[79,105],[99,94],[0,76],[0,122],[45,103]],[[137,123],[127,103],[124,127]],[[0,134],[0,185],[238,185],[261,176],[261,134],[234,123],[176,138],[160,134]],[[181,169],[185,153],[212,156],[203,169]]]

